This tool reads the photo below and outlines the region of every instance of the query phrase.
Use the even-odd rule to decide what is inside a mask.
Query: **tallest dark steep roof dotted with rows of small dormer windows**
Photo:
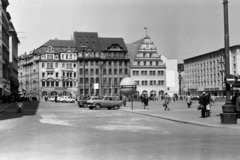
[[[97,32],[74,32],[74,41],[77,50],[81,50],[82,46],[87,46],[93,51],[101,51]]]

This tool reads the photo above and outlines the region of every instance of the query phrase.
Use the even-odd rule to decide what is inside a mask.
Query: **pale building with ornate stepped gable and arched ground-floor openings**
[[[147,35],[127,44],[131,58],[131,78],[137,83],[137,95],[160,97],[167,92],[166,64]]]

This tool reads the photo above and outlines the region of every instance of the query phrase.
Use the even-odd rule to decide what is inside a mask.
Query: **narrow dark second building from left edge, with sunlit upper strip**
[[[12,95],[18,95],[18,44],[20,43],[17,32],[14,29],[13,23],[9,23],[9,62],[10,62],[10,88]]]

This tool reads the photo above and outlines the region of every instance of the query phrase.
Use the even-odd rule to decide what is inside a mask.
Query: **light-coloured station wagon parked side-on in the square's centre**
[[[95,108],[96,110],[100,108],[107,108],[107,109],[119,109],[122,106],[122,101],[117,100],[112,96],[104,96],[103,98],[93,97],[87,101],[89,109]]]

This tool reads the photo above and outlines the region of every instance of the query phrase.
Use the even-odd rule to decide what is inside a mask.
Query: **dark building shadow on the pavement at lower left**
[[[4,110],[2,113],[0,113],[0,121],[7,120],[7,119],[21,118],[23,116],[36,115],[39,107],[39,103],[40,103],[39,101],[23,102],[23,110],[21,113],[17,112],[17,109],[18,109],[17,104],[13,104],[10,107],[8,107],[6,110]]]

